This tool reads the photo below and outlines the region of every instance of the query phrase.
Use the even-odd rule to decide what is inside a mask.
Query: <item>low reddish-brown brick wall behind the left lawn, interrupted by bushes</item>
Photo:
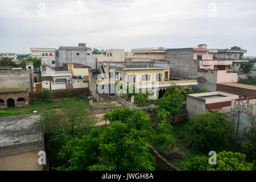
[[[66,97],[67,90],[52,90],[54,93],[54,98],[64,98]],[[72,97],[79,96],[79,94],[89,94],[89,88],[79,88],[72,89]],[[40,92],[29,92],[29,97],[31,99],[42,99]]]

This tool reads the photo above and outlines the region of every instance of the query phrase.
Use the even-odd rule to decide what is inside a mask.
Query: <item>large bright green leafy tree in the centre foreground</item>
[[[94,129],[61,149],[59,158],[70,159],[70,163],[57,169],[154,170],[154,158],[147,144],[152,131],[150,117],[143,111],[117,107],[104,119],[110,122],[105,129]]]

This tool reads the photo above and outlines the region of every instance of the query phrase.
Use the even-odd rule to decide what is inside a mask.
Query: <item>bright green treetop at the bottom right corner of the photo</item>
[[[246,163],[246,155],[240,152],[217,153],[217,163],[209,164],[209,156],[196,156],[182,164],[185,171],[253,171],[253,163]]]

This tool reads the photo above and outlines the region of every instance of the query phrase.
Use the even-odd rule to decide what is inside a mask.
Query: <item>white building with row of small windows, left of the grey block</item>
[[[31,57],[41,58],[43,65],[56,67],[55,64],[55,50],[56,48],[30,48]]]

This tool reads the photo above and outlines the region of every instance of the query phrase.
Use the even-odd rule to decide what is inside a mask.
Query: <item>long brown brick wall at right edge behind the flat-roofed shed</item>
[[[239,98],[241,98],[242,96],[246,96],[246,97],[256,96],[256,90],[248,89],[248,88],[240,88],[236,86],[222,85],[222,84],[217,84],[216,91],[236,94],[239,96]]]

